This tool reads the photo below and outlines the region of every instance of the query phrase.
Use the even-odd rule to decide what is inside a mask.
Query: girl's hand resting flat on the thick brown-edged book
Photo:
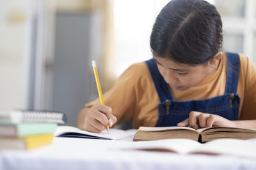
[[[191,111],[189,113],[189,118],[183,120],[178,126],[188,126],[194,129],[205,128],[205,127],[236,127],[234,122],[223,118],[219,115],[202,113],[198,111]]]

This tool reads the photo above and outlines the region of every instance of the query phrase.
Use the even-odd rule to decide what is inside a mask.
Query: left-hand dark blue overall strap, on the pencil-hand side
[[[156,61],[154,59],[150,59],[145,62],[148,66],[151,78],[154,81],[154,85],[156,87],[160,101],[166,101],[166,99],[173,100],[170,86],[168,85],[168,83],[166,83],[166,81],[164,81],[163,76],[159,73]]]

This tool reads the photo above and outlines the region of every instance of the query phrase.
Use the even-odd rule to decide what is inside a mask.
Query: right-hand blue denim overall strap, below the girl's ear
[[[239,80],[240,58],[237,53],[226,53],[227,56],[227,78],[225,94],[237,92],[237,85]]]

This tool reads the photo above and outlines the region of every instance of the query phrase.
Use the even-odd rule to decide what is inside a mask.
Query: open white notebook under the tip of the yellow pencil
[[[58,126],[57,131],[54,133],[56,137],[70,137],[70,138],[90,138],[90,139],[125,139],[134,134],[121,130],[121,129],[109,129],[109,134],[106,130],[101,133],[93,133],[83,131],[77,127],[72,126]]]

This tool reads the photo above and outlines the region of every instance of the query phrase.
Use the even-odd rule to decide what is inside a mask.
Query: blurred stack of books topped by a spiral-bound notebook
[[[0,112],[0,150],[30,150],[50,145],[65,114],[46,111]]]

